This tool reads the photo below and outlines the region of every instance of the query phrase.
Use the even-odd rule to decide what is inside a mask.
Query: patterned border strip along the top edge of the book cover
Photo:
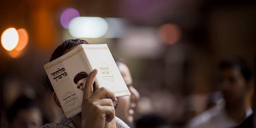
[[[75,56],[76,54],[78,54],[78,53],[79,53],[80,51],[82,51],[83,49],[86,49],[86,50],[105,50],[105,49],[108,49],[108,47],[92,47],[92,48],[90,48],[90,47],[85,47],[85,48],[80,48],[80,49],[77,50],[75,53],[73,53],[73,54],[71,54],[71,55],[65,57],[64,59],[62,59],[62,60],[60,60],[60,61],[58,61],[58,62],[56,62],[56,63],[54,63],[54,64],[52,64],[52,65],[50,65],[50,66],[48,66],[48,67],[46,67],[45,70],[50,69],[50,68],[52,68],[52,67],[54,67],[54,66],[60,64],[61,62],[65,61],[65,60],[68,60],[68,59],[71,58],[72,56]]]

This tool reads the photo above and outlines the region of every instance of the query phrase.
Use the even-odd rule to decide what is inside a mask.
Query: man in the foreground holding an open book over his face
[[[69,39],[62,42],[52,53],[50,61],[70,52],[79,44],[89,43],[82,39]],[[81,113],[70,118],[63,114],[57,123],[45,124],[42,128],[129,128],[127,124],[115,116],[115,108],[118,104],[118,98],[115,97],[115,94],[104,87],[97,90],[93,89],[96,75],[97,70],[94,69],[86,79]],[[56,105],[61,108],[60,101],[48,77],[46,77],[46,81]]]

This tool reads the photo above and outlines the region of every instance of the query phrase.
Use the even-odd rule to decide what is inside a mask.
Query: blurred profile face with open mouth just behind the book
[[[133,123],[133,108],[136,107],[137,101],[140,98],[139,92],[132,86],[132,77],[129,68],[122,62],[116,62],[116,65],[124,78],[124,82],[127,85],[130,96],[119,97],[118,106],[116,108],[116,116],[123,120],[126,124]]]

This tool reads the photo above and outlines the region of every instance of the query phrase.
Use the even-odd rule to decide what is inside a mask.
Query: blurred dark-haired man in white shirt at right
[[[230,128],[240,124],[252,114],[247,100],[253,88],[252,72],[246,62],[239,58],[225,59],[219,64],[220,90],[225,105],[213,107],[194,120],[188,128]]]

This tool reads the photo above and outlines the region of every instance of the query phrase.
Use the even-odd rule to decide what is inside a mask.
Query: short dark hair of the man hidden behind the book
[[[52,53],[52,57],[50,59],[49,62],[51,62],[52,60],[55,60],[59,57],[62,56],[62,54],[67,50],[67,49],[71,49],[74,46],[77,46],[79,44],[89,44],[87,41],[82,40],[82,39],[69,39],[66,40],[64,42],[62,42]],[[52,87],[52,84],[48,78],[48,76],[46,75],[46,83],[48,88],[51,90],[51,92],[54,92],[54,89]]]

